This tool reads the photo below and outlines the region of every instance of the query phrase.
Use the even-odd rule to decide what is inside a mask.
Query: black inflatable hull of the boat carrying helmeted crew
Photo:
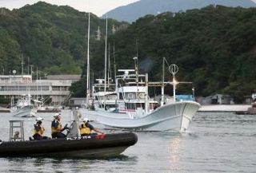
[[[133,132],[52,140],[2,142],[0,156],[106,157],[119,155],[136,144]]]

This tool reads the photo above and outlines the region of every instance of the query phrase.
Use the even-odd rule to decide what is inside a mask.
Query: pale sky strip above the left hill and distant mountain
[[[139,0],[41,0],[58,6],[72,6],[79,11],[86,11],[101,17],[107,11],[113,10],[118,6],[126,6]],[[256,0],[255,0],[256,1]],[[0,7],[6,7],[13,10],[18,9],[26,4],[34,4],[38,0],[0,0]]]

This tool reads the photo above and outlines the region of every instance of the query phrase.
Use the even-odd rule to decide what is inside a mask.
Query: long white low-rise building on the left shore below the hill
[[[46,80],[32,81],[31,75],[0,75],[0,96],[21,96],[30,94],[51,98],[52,103],[60,105],[70,96],[69,88],[80,75],[50,75]]]

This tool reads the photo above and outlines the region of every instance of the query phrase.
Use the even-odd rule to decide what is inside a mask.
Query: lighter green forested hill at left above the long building
[[[106,22],[94,14],[90,19],[93,51],[104,43]],[[109,32],[112,25],[116,28],[126,25],[114,20],[108,22]],[[102,32],[101,41],[96,41],[98,26]],[[21,73],[22,57],[25,66],[33,65],[34,71],[38,67],[40,74],[82,73],[87,51],[87,27],[88,14],[70,6],[38,2],[18,10],[0,9],[1,73],[9,74],[13,69]]]

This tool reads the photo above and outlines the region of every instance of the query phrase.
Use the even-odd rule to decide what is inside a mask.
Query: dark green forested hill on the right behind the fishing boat
[[[151,80],[160,79],[166,57],[178,65],[178,79],[194,81],[200,96],[226,93],[240,101],[256,89],[255,8],[207,6],[148,15],[112,39],[122,67],[128,57],[136,56],[138,41],[138,57],[150,67]]]

